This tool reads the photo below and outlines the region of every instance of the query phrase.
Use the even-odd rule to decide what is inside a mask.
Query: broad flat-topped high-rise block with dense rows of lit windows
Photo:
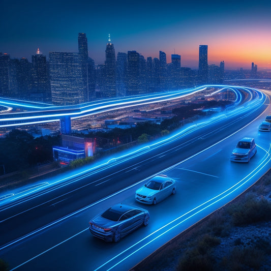
[[[78,53],[49,52],[52,103],[83,103],[84,84]]]

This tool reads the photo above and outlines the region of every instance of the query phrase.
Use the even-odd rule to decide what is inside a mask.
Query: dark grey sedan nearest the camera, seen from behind
[[[89,221],[89,230],[95,237],[116,243],[148,221],[147,210],[119,203]]]

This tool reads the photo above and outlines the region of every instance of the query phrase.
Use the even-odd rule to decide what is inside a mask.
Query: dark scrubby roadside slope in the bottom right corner
[[[134,271],[271,270],[271,170],[247,192],[179,234]]]

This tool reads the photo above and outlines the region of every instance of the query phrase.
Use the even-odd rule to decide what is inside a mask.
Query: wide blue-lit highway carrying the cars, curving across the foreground
[[[136,156],[111,159],[110,166],[86,171],[76,182],[67,179],[38,194],[6,201],[0,209],[0,257],[16,270],[133,267],[269,169],[270,133],[258,132],[269,111],[269,99],[255,108],[238,107],[184,127],[171,140],[145,146]],[[232,149],[245,136],[255,138],[257,154],[250,163],[230,162]],[[176,194],[156,206],[137,203],[136,189],[158,173],[177,180]],[[150,223],[117,244],[104,243],[91,235],[88,221],[118,202],[145,207]]]

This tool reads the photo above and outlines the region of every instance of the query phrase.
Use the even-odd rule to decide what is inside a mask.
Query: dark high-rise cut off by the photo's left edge
[[[9,65],[10,55],[0,52],[0,95],[9,95]]]

